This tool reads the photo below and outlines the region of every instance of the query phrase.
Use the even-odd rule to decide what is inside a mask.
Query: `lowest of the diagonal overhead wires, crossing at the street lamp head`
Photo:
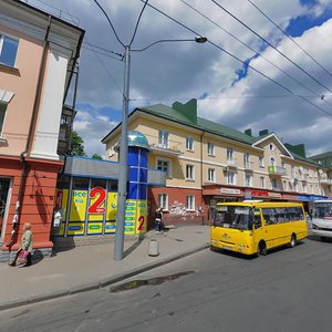
[[[144,2],[143,0],[139,0],[142,2]],[[170,15],[168,15],[167,13],[165,13],[164,11],[159,10],[158,8],[156,8],[155,6],[152,6],[151,3],[147,3],[147,6],[152,9],[154,9],[155,11],[157,11],[158,13],[163,14],[164,17],[168,18],[169,20],[172,20],[173,22],[179,24],[180,27],[183,27],[184,29],[193,32],[196,35],[203,35],[200,33],[198,33],[197,31],[193,30],[191,28],[185,25],[184,23],[179,22],[178,20],[172,18]],[[283,89],[284,91],[289,92],[292,95],[295,95],[291,90],[289,90],[288,87],[283,86],[281,83],[277,82],[276,80],[269,77],[268,75],[266,75],[264,73],[262,73],[261,71],[257,70],[256,68],[253,68],[252,65],[250,65],[249,63],[246,63],[245,61],[242,61],[241,59],[239,59],[238,56],[236,56],[235,54],[228,52],[227,50],[225,50],[224,48],[219,46],[218,44],[214,43],[212,41],[210,41],[208,39],[208,43],[210,43],[211,45],[214,45],[215,48],[219,49],[220,51],[222,51],[224,53],[228,54],[229,56],[236,59],[237,61],[241,62],[242,64],[247,65],[248,68],[252,69],[255,72],[261,74],[262,76],[264,76],[266,79],[268,79],[269,81],[273,82],[274,84],[277,84],[278,86],[280,86],[281,89]],[[329,112],[326,112],[325,110],[323,110],[322,107],[315,105],[314,103],[312,103],[311,101],[309,101],[308,98],[303,97],[303,96],[299,96],[299,98],[305,101],[307,103],[311,104],[312,106],[314,106],[315,108],[320,110],[321,112],[323,112],[324,114],[329,115],[332,117],[332,114],[330,114]]]

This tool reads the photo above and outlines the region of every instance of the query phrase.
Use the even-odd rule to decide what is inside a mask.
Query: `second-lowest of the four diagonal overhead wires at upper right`
[[[222,30],[225,33],[227,33],[228,35],[230,35],[231,38],[234,38],[235,40],[237,40],[239,43],[241,43],[248,50],[252,51],[255,54],[258,54],[261,59],[263,59],[264,61],[267,61],[268,63],[270,63],[272,66],[274,66],[280,72],[282,72],[289,79],[291,79],[292,81],[294,81],[295,83],[298,83],[300,86],[302,86],[303,89],[305,89],[305,90],[310,91],[311,93],[315,94],[323,102],[325,102],[326,104],[329,104],[330,106],[332,106],[331,103],[329,103],[328,101],[325,101],[324,98],[322,98],[322,95],[320,95],[319,93],[317,93],[312,89],[310,89],[307,85],[304,85],[300,80],[295,79],[294,76],[292,76],[291,74],[289,74],[287,71],[282,70],[280,66],[278,66],[277,64],[274,64],[268,58],[266,58],[264,55],[262,55],[259,51],[255,50],[249,44],[247,44],[246,42],[243,42],[242,40],[240,40],[239,38],[237,38],[235,34],[232,34],[231,32],[229,32],[228,30],[226,30],[225,28],[222,28],[220,24],[218,24],[217,22],[215,22],[214,20],[211,20],[210,18],[208,18],[207,15],[205,15],[201,11],[199,11],[198,9],[196,9],[195,7],[193,7],[191,4],[189,4],[188,2],[186,2],[185,0],[179,0],[179,1],[183,2],[184,4],[186,4],[187,7],[189,7],[191,10],[194,10],[196,13],[198,13],[199,15],[201,15],[203,18],[205,18],[206,20],[208,20],[210,23],[212,23],[214,25],[216,25],[217,28],[219,28],[220,30]]]

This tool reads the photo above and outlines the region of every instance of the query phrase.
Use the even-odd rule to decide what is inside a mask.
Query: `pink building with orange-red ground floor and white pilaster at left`
[[[84,31],[17,0],[0,12],[0,261],[20,248],[30,222],[35,255],[50,232],[63,101]],[[39,250],[39,251],[38,251]]]

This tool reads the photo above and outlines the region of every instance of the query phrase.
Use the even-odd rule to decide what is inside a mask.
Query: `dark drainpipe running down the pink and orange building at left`
[[[31,153],[32,142],[33,142],[33,133],[35,131],[35,125],[37,125],[39,102],[40,102],[40,95],[41,95],[41,90],[42,90],[42,83],[43,83],[44,70],[45,70],[45,63],[46,63],[46,55],[48,55],[46,52],[48,52],[48,45],[49,45],[49,34],[50,34],[50,29],[51,29],[51,21],[52,21],[52,17],[49,15],[46,33],[45,33],[44,41],[43,41],[43,52],[42,52],[41,63],[40,63],[40,68],[39,68],[39,75],[38,75],[37,89],[35,89],[35,94],[34,94],[34,102],[33,102],[32,116],[31,116],[31,122],[30,122],[30,127],[29,127],[29,134],[28,134],[28,138],[27,138],[25,149],[23,152],[21,152],[21,154],[20,154],[22,172],[21,172],[21,180],[20,180],[20,187],[19,187],[19,193],[18,193],[18,200],[15,204],[15,212],[14,212],[14,216],[12,219],[12,230],[11,230],[11,235],[10,235],[10,241],[7,243],[9,251],[11,251],[11,247],[17,242],[17,238],[18,238],[18,228],[19,228],[19,224],[20,224],[22,197],[23,197],[23,190],[25,187],[25,176],[27,176],[25,172],[28,168],[25,155]]]

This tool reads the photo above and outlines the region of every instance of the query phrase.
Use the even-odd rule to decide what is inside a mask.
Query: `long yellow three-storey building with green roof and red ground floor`
[[[252,135],[197,116],[197,101],[134,110],[128,129],[144,134],[149,167],[164,170],[166,187],[149,189],[149,210],[167,222],[204,222],[220,201],[263,199],[310,201],[331,196],[326,168],[305,156],[304,146],[283,144],[267,129]],[[106,158],[118,159],[121,124],[108,133]],[[152,216],[152,214],[151,214]]]

